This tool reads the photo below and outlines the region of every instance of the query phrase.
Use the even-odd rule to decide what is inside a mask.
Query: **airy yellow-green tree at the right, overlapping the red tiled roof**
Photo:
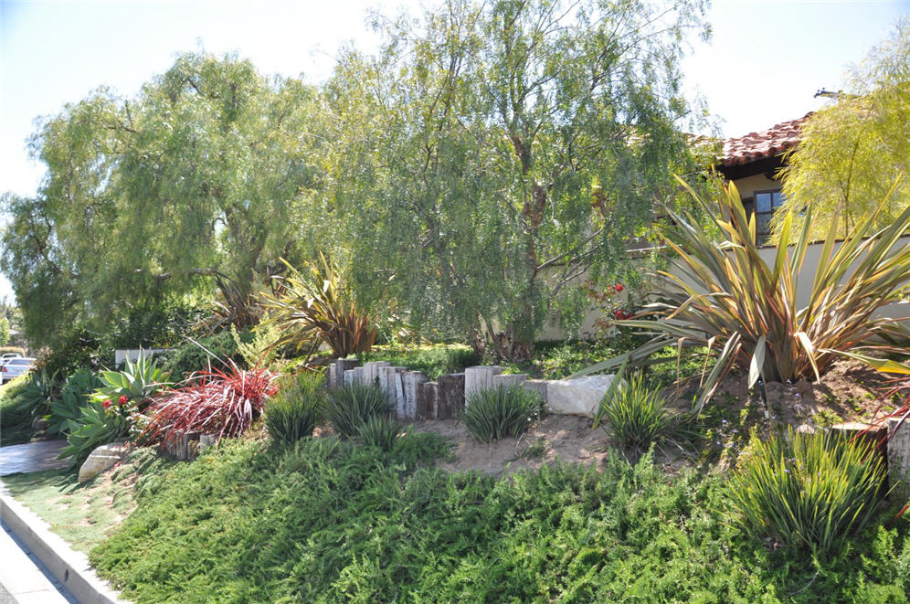
[[[829,107],[815,111],[802,126],[801,140],[784,170],[784,213],[811,207],[811,236],[838,238],[875,213],[884,228],[910,206],[910,180],[900,182],[887,203],[895,179],[907,171],[910,157],[910,21],[900,22],[883,44],[847,76],[844,92]],[[782,218],[783,213],[778,214]],[[781,218],[773,226],[779,233]]]

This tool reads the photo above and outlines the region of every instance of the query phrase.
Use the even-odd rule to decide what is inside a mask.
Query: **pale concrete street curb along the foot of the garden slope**
[[[0,519],[30,549],[50,574],[82,604],[127,604],[116,591],[95,575],[89,558],[69,547],[48,523],[13,499],[0,481]]]

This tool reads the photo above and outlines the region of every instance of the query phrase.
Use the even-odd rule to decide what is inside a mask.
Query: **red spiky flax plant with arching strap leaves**
[[[259,418],[266,399],[275,394],[278,376],[267,369],[242,371],[231,363],[227,371],[198,374],[185,387],[155,397],[140,441],[164,443],[182,432],[235,437]]]

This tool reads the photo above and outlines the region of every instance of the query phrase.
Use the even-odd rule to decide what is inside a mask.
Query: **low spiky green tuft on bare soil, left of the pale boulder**
[[[496,387],[468,397],[461,419],[475,439],[492,442],[523,435],[543,410],[540,397],[527,388]]]

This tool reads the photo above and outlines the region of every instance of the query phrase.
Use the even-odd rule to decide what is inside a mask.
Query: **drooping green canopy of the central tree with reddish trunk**
[[[306,236],[346,250],[372,307],[526,360],[570,278],[630,269],[652,200],[693,169],[679,42],[703,11],[455,0],[381,22],[376,56],[345,52],[326,87],[339,153]]]

